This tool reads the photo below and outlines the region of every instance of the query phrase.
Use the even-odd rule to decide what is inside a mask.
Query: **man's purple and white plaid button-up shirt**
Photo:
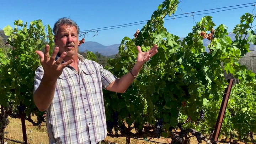
[[[79,74],[71,66],[64,68],[46,111],[50,144],[96,144],[107,135],[102,88],[116,77],[95,61],[78,57]],[[43,67],[35,73],[34,91],[43,77]]]

